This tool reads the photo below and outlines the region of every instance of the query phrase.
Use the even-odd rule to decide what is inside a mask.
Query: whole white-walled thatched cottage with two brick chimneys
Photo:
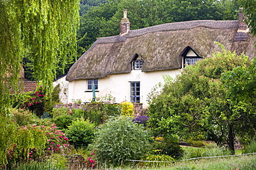
[[[214,41],[252,59],[256,39],[242,17],[239,13],[239,21],[185,21],[129,30],[124,10],[120,34],[98,38],[70,68],[68,103],[91,100],[95,87],[96,97],[111,94],[117,103],[127,100],[145,108],[147,95],[163,82],[163,74],[175,77],[185,65],[220,51]]]

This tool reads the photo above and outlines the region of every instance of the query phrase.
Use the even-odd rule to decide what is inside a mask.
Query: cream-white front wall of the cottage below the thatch
[[[132,70],[127,74],[109,74],[107,77],[98,79],[98,91],[95,92],[96,98],[111,94],[116,97],[116,103],[124,100],[130,101],[130,82],[140,81],[140,103],[143,108],[147,108],[147,95],[158,83],[163,83],[163,75],[170,74],[175,78],[179,70],[165,70],[156,72],[141,72],[141,70]],[[81,99],[82,102],[88,102],[93,98],[93,92],[85,92],[87,89],[87,80],[76,80],[68,83],[68,103]]]

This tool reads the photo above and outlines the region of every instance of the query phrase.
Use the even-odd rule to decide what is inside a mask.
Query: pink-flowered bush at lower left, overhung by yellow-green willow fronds
[[[52,127],[28,125],[19,127],[10,138],[7,156],[10,163],[26,162],[60,153],[65,147],[68,147],[68,138],[54,124]]]

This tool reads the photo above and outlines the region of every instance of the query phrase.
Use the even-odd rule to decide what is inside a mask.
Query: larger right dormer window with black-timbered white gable
[[[183,57],[183,67],[185,67],[186,65],[194,65],[196,61],[200,61],[201,59],[203,59],[203,57],[196,54],[196,52],[194,52],[194,50],[190,46],[185,47],[185,50],[181,54],[181,56]]]

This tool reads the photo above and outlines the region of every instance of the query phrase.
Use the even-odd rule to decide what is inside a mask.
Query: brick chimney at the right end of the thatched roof
[[[240,8],[238,10],[238,30],[237,30],[237,34],[235,34],[235,38],[234,41],[246,41],[247,40],[247,32],[249,32],[249,29],[246,25],[246,23],[244,22],[244,13],[241,12],[241,10],[243,10],[242,8]]]

